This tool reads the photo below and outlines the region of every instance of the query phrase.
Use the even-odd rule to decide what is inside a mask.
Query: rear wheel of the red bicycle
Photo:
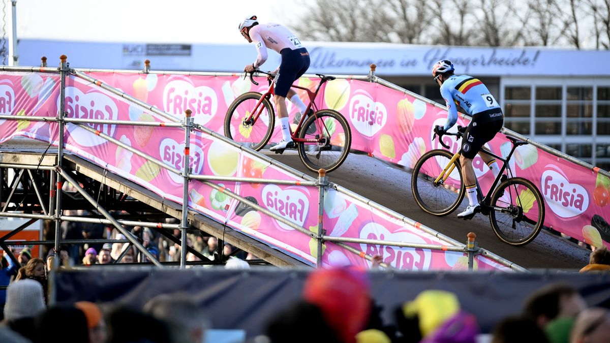
[[[345,161],[351,147],[351,131],[343,115],[323,109],[304,121],[298,137],[310,142],[298,143],[301,161],[309,170],[333,171]]]

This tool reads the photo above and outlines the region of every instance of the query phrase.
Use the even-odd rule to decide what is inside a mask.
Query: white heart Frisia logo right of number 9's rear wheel
[[[548,207],[562,218],[572,218],[589,208],[587,190],[579,184],[570,183],[567,176],[555,165],[547,165],[540,179],[542,196]]]

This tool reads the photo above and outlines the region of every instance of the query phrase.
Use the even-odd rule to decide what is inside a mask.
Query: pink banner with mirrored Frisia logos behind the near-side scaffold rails
[[[1,114],[55,117],[59,108],[59,78],[38,73],[1,73]],[[40,84],[40,79],[43,83]],[[33,80],[33,84],[31,81]],[[45,85],[46,84],[46,85]],[[165,121],[165,118],[146,112],[143,107],[130,104],[113,95],[70,76],[65,87],[66,116],[72,118]],[[92,128],[110,135],[126,145],[181,170],[184,151],[184,131],[179,128],[149,126],[98,125]],[[0,142],[15,135],[31,137],[57,144],[57,124],[34,121],[7,120],[0,126]],[[65,147],[79,156],[107,168],[113,173],[137,182],[168,200],[182,203],[182,178],[160,168],[129,150],[102,139],[77,125],[66,124]],[[270,165],[257,154],[242,151],[203,132],[191,135],[192,172],[199,175],[244,176],[266,179],[303,181],[281,168]],[[219,182],[224,188],[248,197],[263,208],[304,228],[317,228],[317,187]],[[262,214],[203,182],[192,180],[189,186],[189,206],[219,222],[228,223],[245,234],[256,237],[281,250],[315,264],[317,244],[309,236],[295,231],[268,215]],[[337,190],[328,190],[323,204],[323,225],[331,236],[362,237],[367,239],[399,240],[419,244],[447,245],[446,242],[407,225],[400,218],[379,212],[359,200]],[[369,255],[381,255],[384,262],[398,269],[441,270],[465,269],[464,253],[420,248],[393,248],[379,245],[350,244]],[[335,244],[323,245],[325,266],[360,265],[370,262]],[[481,270],[509,270],[484,256],[476,256],[476,268]]]

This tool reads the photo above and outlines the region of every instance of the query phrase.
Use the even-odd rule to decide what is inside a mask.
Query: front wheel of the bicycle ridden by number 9
[[[453,162],[453,170],[444,181],[434,180],[449,165],[453,154],[437,149],[423,154],[415,163],[411,176],[411,189],[415,202],[423,211],[439,217],[448,215],[464,200],[464,181],[459,161]]]

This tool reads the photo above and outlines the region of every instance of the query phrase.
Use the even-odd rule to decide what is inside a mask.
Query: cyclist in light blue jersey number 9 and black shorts
[[[445,134],[451,126],[458,121],[460,106],[464,112],[472,116],[472,120],[462,137],[462,178],[468,195],[468,207],[458,214],[458,218],[470,219],[479,212],[479,202],[476,198],[476,175],[472,167],[472,159],[478,153],[492,170],[493,176],[498,176],[500,167],[489,154],[483,153],[481,147],[495,137],[504,123],[504,115],[498,102],[493,98],[489,89],[472,76],[455,75],[455,68],[450,60],[440,60],[432,67],[432,76],[440,86],[440,95],[447,103],[447,123],[436,126],[434,132]],[[456,106],[457,105],[457,106]]]

